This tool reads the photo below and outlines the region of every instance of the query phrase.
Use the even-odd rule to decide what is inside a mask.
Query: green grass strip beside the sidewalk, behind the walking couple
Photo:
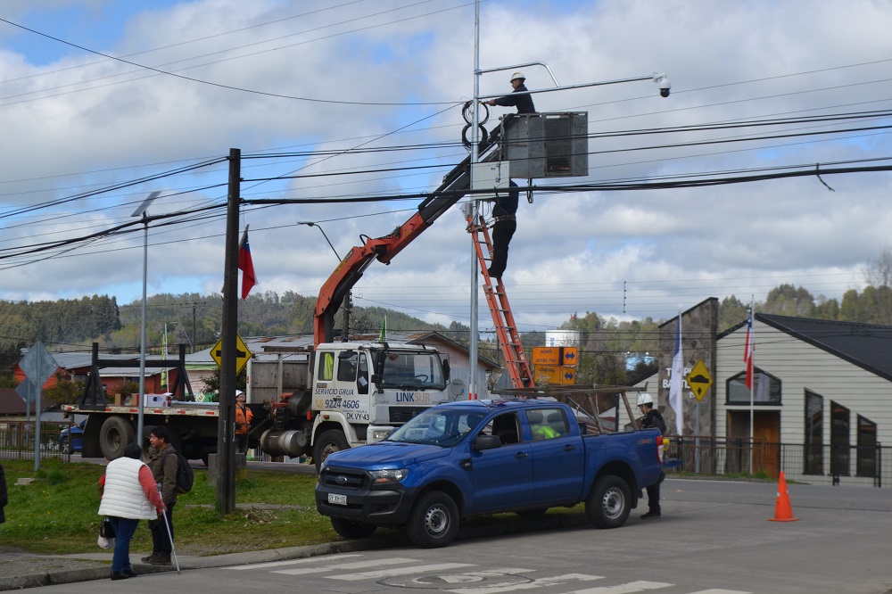
[[[99,477],[103,466],[46,460],[34,472],[32,460],[4,460],[9,505],[0,524],[4,546],[33,553],[94,552],[99,531]],[[20,478],[33,478],[16,485]],[[297,547],[341,540],[316,511],[316,477],[251,470],[235,486],[234,514],[220,516],[217,491],[207,471],[195,471],[192,491],[174,508],[174,541],[181,555],[220,555],[246,550]],[[250,505],[243,509],[242,505]],[[141,522],[130,545],[150,551],[152,536]]]

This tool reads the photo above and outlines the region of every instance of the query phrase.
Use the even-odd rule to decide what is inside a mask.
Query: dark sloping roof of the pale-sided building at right
[[[892,326],[760,313],[756,320],[892,380]]]

